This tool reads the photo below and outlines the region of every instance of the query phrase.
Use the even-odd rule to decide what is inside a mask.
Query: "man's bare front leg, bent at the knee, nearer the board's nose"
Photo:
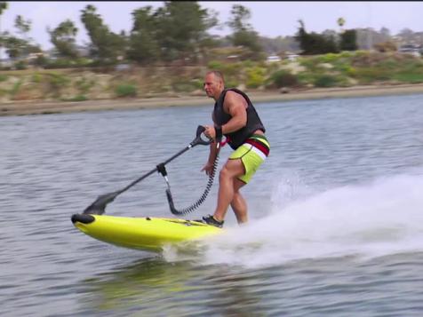
[[[216,220],[222,221],[225,218],[227,207],[234,200],[235,180],[244,173],[245,170],[241,159],[227,160],[222,170],[220,170],[218,206],[213,215]]]

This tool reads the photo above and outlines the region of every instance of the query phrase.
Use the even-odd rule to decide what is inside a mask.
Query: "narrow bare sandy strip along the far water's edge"
[[[372,97],[423,93],[423,83],[401,85],[368,85],[341,88],[313,88],[290,91],[246,91],[254,104],[273,101]],[[84,111],[129,110],[155,107],[188,107],[213,105],[205,96],[177,96],[148,99],[96,99],[86,101],[16,101],[0,104],[0,116],[49,115]]]

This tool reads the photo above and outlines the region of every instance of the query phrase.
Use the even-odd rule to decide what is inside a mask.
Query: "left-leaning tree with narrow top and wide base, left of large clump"
[[[91,39],[90,53],[92,57],[103,64],[115,63],[118,57],[124,54],[125,39],[109,31],[93,5],[87,5],[81,12],[81,21]]]

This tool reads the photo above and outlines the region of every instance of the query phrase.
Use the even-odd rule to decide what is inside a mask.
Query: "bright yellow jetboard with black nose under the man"
[[[84,234],[119,247],[161,251],[164,245],[196,240],[222,229],[194,220],[177,218],[131,218],[75,214],[72,222]]]

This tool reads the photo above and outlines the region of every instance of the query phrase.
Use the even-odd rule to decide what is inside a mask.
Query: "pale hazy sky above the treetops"
[[[84,25],[80,21],[81,10],[87,4],[97,8],[97,12],[113,32],[130,31],[132,28],[132,11],[151,5],[163,6],[163,2],[8,2],[9,8],[1,16],[1,30],[14,33],[13,22],[20,14],[25,20],[32,21],[29,34],[41,44],[43,49],[52,48],[46,28],[56,28],[63,20],[73,20],[78,28],[77,42],[88,41]],[[251,10],[250,23],[261,36],[293,36],[301,19],[307,31],[323,32],[325,29],[337,29],[337,20],[346,20],[344,28],[374,28],[386,27],[392,35],[403,28],[423,31],[423,2],[207,2],[200,1],[203,8],[219,12],[219,22],[227,22],[233,4],[242,4]],[[213,29],[211,34],[224,36],[230,33],[227,27]]]

